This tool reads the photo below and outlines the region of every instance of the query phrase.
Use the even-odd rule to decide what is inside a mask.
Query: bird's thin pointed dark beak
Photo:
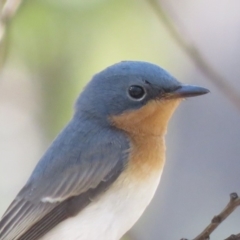
[[[167,94],[166,98],[188,98],[209,93],[210,91],[203,87],[192,85],[181,85],[174,91]]]

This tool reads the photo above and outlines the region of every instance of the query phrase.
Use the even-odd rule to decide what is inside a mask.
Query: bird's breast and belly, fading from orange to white
[[[41,240],[118,240],[134,225],[157,189],[165,147],[163,139],[131,145],[129,164],[111,187]]]

